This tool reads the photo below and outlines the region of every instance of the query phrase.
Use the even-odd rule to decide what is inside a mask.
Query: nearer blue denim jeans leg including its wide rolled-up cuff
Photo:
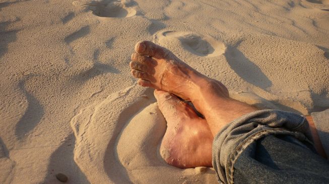
[[[220,183],[329,183],[329,163],[313,146],[305,117],[261,110],[240,117],[214,137]]]

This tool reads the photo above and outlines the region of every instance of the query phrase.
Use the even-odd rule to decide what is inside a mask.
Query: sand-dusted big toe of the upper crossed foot
[[[141,55],[152,57],[165,57],[170,51],[150,41],[139,41],[135,45],[135,51]]]

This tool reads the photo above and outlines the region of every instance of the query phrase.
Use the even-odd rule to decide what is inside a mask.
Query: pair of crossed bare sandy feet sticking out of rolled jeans
[[[138,78],[138,84],[156,89],[154,95],[167,121],[160,151],[173,166],[212,166],[214,135],[230,121],[256,110],[230,99],[221,82],[150,41],[137,43],[131,60],[131,73]],[[205,119],[176,96],[191,101]]]

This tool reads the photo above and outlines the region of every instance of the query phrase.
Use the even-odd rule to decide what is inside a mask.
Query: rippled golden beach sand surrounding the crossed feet
[[[329,107],[329,1],[0,0],[0,183],[216,183],[159,156],[166,125],[128,62],[171,49],[233,98]]]

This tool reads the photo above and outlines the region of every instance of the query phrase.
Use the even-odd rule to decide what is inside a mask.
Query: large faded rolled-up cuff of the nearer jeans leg
[[[305,117],[286,111],[260,110],[233,120],[214,137],[213,167],[221,183],[233,183],[234,163],[252,142],[266,135],[292,135],[313,144]]]

